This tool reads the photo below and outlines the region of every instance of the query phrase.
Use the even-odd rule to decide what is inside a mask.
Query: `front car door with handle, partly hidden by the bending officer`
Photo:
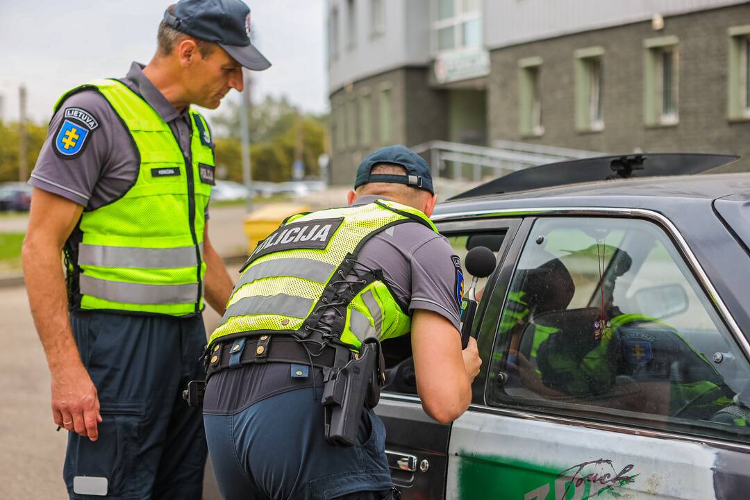
[[[518,220],[462,221],[440,223],[438,229],[449,238],[462,262],[474,246],[490,247],[498,262],[502,262],[518,225]],[[471,278],[465,269],[463,274],[468,289]],[[487,283],[493,286],[493,276],[480,280],[478,289],[481,291]],[[479,307],[476,324],[483,314]],[[375,412],[386,424],[386,456],[393,482],[401,490],[402,499],[443,499],[451,426],[438,424],[422,410],[416,394],[410,339],[386,341],[383,351],[389,365],[388,383]]]

